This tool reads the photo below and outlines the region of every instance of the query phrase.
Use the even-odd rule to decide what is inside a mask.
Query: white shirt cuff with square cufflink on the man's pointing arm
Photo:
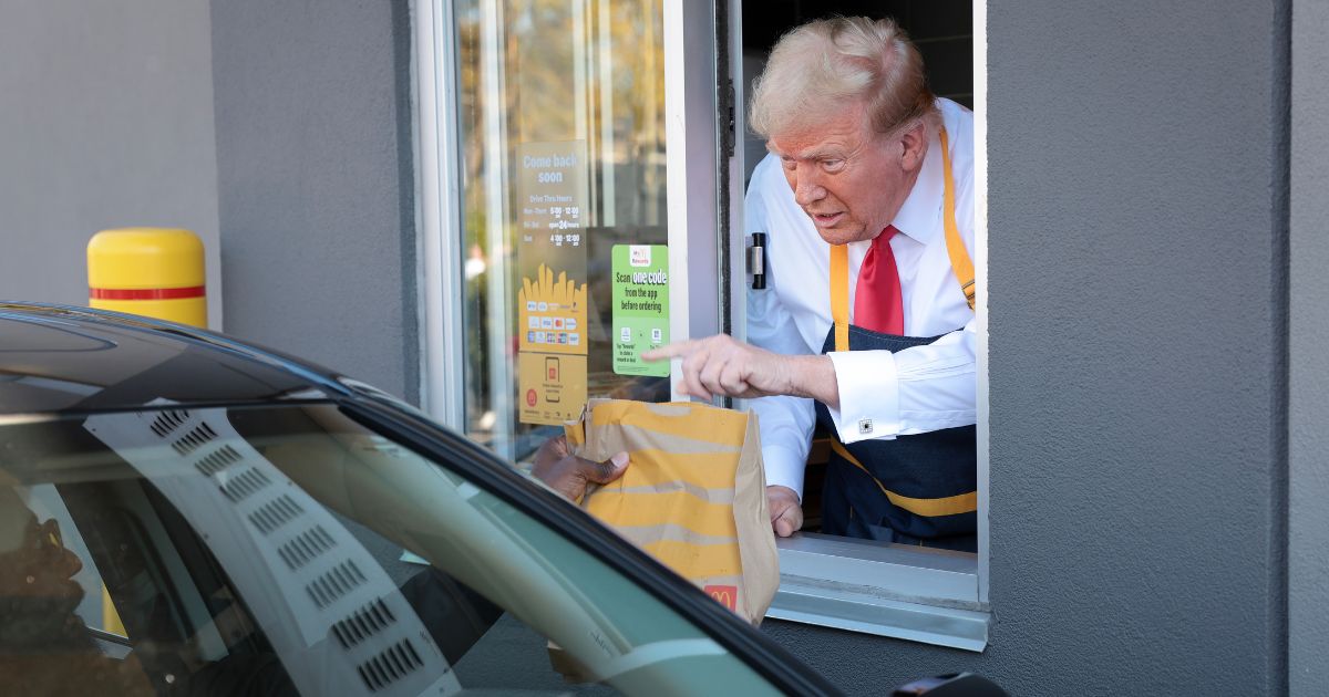
[[[872,438],[893,439],[900,434],[900,381],[896,356],[889,350],[835,350],[840,408],[827,409],[840,435],[849,445]]]

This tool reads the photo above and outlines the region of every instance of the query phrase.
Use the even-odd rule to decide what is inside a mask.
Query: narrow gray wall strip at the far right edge
[[[1288,676],[1310,697],[1329,686],[1329,5],[1292,7]]]

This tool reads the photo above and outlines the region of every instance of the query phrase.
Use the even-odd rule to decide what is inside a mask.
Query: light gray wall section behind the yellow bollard
[[[88,304],[98,230],[183,227],[221,327],[207,0],[0,4],[0,297]]]

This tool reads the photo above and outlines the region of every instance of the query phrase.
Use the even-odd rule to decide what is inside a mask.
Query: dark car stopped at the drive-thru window
[[[0,693],[459,692],[836,689],[380,390],[0,303]]]

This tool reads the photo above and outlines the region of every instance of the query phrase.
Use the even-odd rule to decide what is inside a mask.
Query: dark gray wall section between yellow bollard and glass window
[[[227,332],[417,402],[407,0],[211,7]]]

